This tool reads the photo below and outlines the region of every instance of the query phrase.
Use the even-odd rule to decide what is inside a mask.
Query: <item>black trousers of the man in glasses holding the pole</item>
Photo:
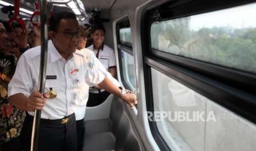
[[[25,151],[30,150],[33,118],[26,115],[21,130],[21,141]],[[77,151],[77,125],[75,114],[69,115],[66,124],[60,120],[40,120],[39,151]]]

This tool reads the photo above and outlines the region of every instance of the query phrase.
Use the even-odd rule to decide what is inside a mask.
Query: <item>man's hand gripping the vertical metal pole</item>
[[[48,96],[46,94],[42,95],[38,91],[33,91],[30,96],[29,96],[29,101],[28,101],[28,108],[29,111],[34,112],[35,109],[41,110],[45,106],[46,99]]]

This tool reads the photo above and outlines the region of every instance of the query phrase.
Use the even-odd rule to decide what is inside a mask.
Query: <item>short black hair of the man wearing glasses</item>
[[[50,31],[57,31],[59,22],[62,19],[74,19],[77,20],[77,18],[75,17],[75,14],[72,13],[71,11],[58,11],[58,12],[53,12],[50,20],[49,20],[49,30]]]

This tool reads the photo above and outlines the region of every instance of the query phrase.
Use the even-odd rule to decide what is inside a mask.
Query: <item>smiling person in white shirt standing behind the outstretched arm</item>
[[[105,69],[111,73],[112,77],[116,77],[116,57],[113,49],[104,44],[105,40],[105,28],[103,25],[96,25],[91,28],[91,38],[93,44],[88,47],[92,50],[100,60]],[[104,102],[110,93],[101,89],[96,85],[89,91],[88,107],[97,106]]]

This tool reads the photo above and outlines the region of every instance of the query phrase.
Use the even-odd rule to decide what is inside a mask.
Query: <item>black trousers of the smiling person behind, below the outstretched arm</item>
[[[108,93],[107,91],[100,92],[99,94],[89,92],[89,98],[86,106],[98,106],[99,104],[103,103],[109,95],[110,93]]]

